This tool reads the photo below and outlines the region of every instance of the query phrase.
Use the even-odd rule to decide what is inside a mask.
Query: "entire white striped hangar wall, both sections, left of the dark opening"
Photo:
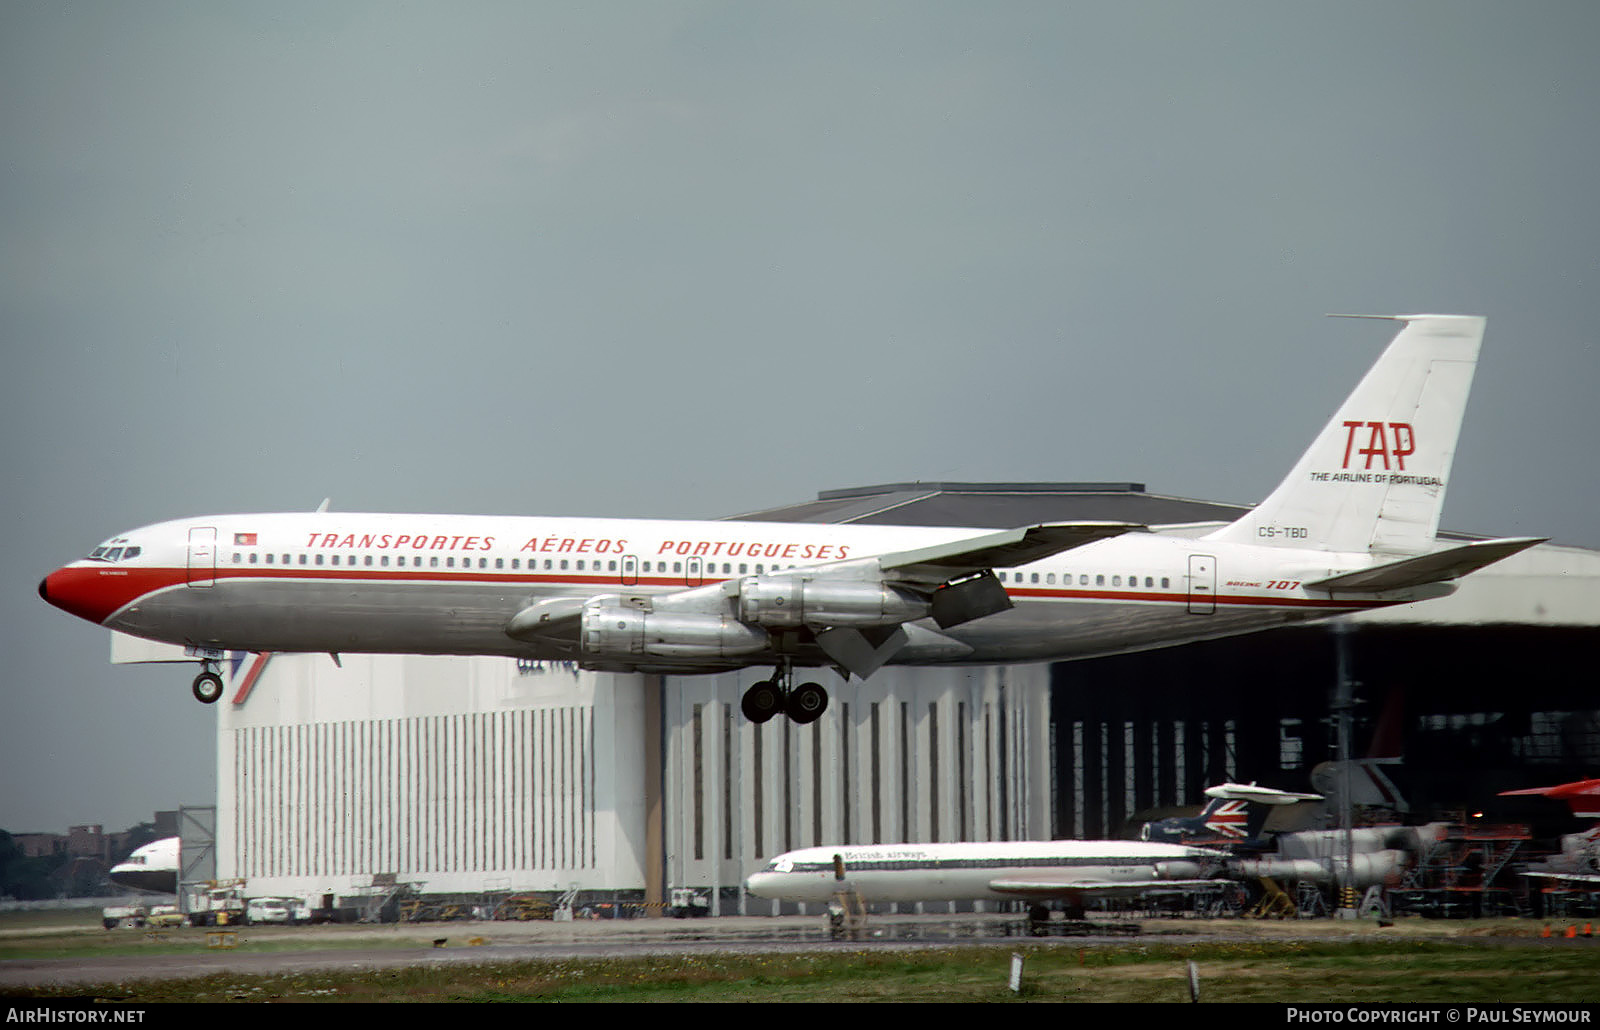
[[[650,902],[691,886],[728,913],[781,851],[1048,836],[1050,793],[1029,788],[1050,777],[1046,665],[827,673],[808,726],[744,720],[758,677],[246,656],[218,705],[216,875],[304,897],[374,876]]]

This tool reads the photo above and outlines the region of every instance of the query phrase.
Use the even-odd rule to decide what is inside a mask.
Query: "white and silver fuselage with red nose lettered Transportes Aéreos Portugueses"
[[[546,598],[659,597],[981,533],[987,531],[483,515],[219,515],[126,533],[99,549],[99,558],[53,573],[40,592],[110,629],[197,648],[582,659],[570,646],[509,637],[507,621]],[[138,553],[125,557],[130,549]],[[1125,534],[998,569],[1014,608],[942,630],[941,640],[962,645],[958,653],[912,646],[894,662],[1114,654],[1414,600],[1339,597],[1301,585],[1368,563],[1368,555]],[[763,659],[744,656],[725,665]],[[693,667],[706,670],[707,662]]]

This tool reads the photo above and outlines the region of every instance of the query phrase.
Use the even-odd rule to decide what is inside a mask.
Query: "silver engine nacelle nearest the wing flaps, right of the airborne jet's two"
[[[739,619],[774,629],[899,625],[928,614],[923,598],[875,581],[746,576]]]

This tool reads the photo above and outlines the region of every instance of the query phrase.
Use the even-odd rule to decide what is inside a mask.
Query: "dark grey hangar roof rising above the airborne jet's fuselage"
[[[885,483],[824,489],[816,501],[730,515],[733,521],[974,526],[1010,529],[1042,521],[1136,521],[1165,526],[1234,521],[1243,504],[1146,493],[1144,483]]]

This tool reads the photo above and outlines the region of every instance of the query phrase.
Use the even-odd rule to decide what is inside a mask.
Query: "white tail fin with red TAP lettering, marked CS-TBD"
[[[1288,478],[1210,539],[1418,555],[1434,547],[1483,318],[1405,323]]]

